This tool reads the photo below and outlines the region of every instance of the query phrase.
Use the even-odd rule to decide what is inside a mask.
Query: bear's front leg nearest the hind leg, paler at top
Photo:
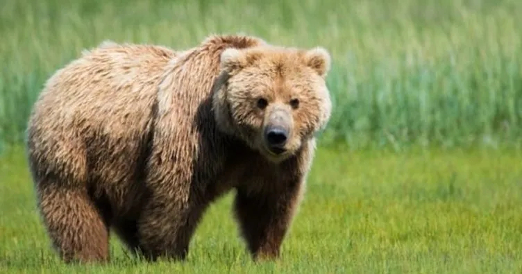
[[[167,110],[158,110],[164,111]],[[201,167],[194,166],[199,164],[194,161],[196,130],[190,130],[190,119],[178,119],[180,113],[165,112],[158,117],[146,166],[146,198],[137,221],[137,234],[144,255],[151,261],[160,257],[185,259],[190,239],[208,207],[208,201],[202,198],[203,183],[196,179],[201,178]]]

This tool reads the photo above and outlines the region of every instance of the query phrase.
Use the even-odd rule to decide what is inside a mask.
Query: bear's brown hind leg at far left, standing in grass
[[[108,220],[87,191],[60,182],[40,182],[38,196],[49,237],[65,262],[109,260]]]

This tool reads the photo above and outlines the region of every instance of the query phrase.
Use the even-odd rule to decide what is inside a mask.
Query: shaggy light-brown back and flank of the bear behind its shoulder
[[[132,175],[151,130],[158,84],[176,54],[162,46],[103,42],[56,71],[28,123],[35,174],[78,182],[87,170],[90,180]]]

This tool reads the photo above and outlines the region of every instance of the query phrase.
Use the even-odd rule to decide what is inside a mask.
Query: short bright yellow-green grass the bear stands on
[[[58,260],[35,209],[23,153],[8,155],[0,162],[0,272],[522,271],[520,152],[321,149],[278,262],[251,261],[228,195],[206,212],[187,262],[140,262],[114,238],[108,266],[66,266]]]

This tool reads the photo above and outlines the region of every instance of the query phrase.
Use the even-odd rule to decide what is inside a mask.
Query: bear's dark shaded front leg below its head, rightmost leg
[[[300,201],[302,184],[301,180],[289,182],[275,192],[237,188],[235,216],[255,260],[279,257],[281,243]]]

